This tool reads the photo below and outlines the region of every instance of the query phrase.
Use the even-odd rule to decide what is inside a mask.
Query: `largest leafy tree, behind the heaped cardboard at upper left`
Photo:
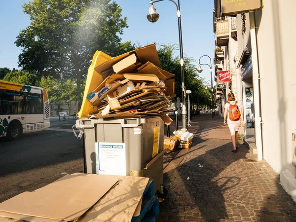
[[[23,48],[19,66],[39,78],[75,80],[81,104],[81,84],[95,51],[117,52],[117,35],[127,27],[122,9],[111,0],[32,0],[23,8],[31,25],[15,41]]]

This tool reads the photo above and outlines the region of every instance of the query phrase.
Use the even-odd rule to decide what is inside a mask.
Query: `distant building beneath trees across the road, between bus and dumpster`
[[[58,116],[59,112],[67,112],[68,115],[74,115],[78,112],[78,102],[72,101],[69,105],[61,102],[50,103],[50,116]]]

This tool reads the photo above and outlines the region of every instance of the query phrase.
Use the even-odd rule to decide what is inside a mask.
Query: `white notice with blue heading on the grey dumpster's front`
[[[125,143],[96,143],[98,174],[126,176]]]

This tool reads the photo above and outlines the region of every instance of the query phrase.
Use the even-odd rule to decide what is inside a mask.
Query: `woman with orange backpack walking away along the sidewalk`
[[[233,93],[228,93],[228,100],[224,106],[224,124],[227,125],[230,130],[231,141],[233,145],[232,152],[237,151],[237,141],[238,141],[238,129],[239,127],[244,127],[244,118],[241,105],[235,100]]]

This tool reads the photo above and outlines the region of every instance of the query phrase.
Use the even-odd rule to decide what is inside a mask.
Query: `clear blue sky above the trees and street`
[[[156,44],[178,44],[179,34],[177,7],[170,0],[154,3],[159,20],[150,23],[147,13],[150,0],[115,0],[122,8],[122,16],[127,17],[128,28],[120,35],[122,41],[132,41],[142,46],[156,42]],[[18,55],[21,48],[14,42],[19,32],[30,25],[30,19],[24,14],[22,5],[28,0],[0,0],[0,68],[18,68]],[[178,0],[176,0],[178,3]],[[180,0],[183,51],[185,56],[192,57],[198,63],[203,55],[214,57],[213,32],[214,0]],[[201,63],[210,64],[208,57],[202,57]],[[211,79],[210,69],[203,66],[200,77]]]

